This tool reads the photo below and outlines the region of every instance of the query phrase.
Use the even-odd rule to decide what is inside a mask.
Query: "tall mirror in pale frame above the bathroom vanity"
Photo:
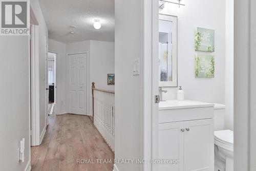
[[[177,16],[159,14],[159,87],[178,86]]]

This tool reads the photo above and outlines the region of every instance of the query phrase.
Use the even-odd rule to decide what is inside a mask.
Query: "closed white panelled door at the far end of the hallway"
[[[87,54],[68,55],[68,110],[86,115]]]

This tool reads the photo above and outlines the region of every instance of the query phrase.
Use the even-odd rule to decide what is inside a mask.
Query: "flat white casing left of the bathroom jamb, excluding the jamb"
[[[158,1],[156,6],[158,7]],[[143,159],[148,161],[150,164],[143,164],[141,170],[151,171],[152,170],[152,114],[153,114],[153,20],[152,20],[152,12],[154,7],[154,1],[146,1],[142,5],[142,87],[143,87],[143,94],[141,95],[142,98],[142,108],[143,108],[143,121],[141,123],[141,130],[143,138],[142,141],[142,150],[143,150]],[[158,76],[158,72],[157,72]],[[158,79],[157,79],[158,84]]]

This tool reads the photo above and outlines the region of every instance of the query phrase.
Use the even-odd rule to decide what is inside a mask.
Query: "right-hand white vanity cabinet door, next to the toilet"
[[[185,121],[184,170],[214,171],[213,119]]]

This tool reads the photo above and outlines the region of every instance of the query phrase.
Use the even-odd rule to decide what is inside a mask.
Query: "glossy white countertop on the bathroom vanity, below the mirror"
[[[213,103],[205,103],[191,100],[167,100],[160,101],[159,110],[186,109],[186,108],[204,108],[214,107]]]

